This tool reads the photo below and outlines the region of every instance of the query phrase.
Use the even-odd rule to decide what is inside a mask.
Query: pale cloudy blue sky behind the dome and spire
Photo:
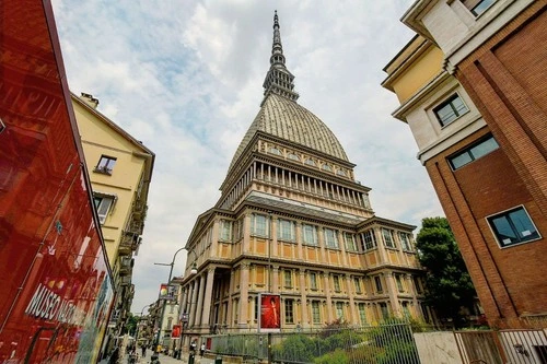
[[[220,197],[258,113],[278,10],[299,104],[338,137],[377,215],[443,215],[382,69],[412,37],[410,0],[53,0],[68,83],[156,153],[132,312],[156,300],[173,254]],[[185,266],[177,256],[174,275]]]

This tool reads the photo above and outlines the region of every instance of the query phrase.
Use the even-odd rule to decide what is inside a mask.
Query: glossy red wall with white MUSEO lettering
[[[113,289],[46,2],[0,2],[0,362],[92,362]]]

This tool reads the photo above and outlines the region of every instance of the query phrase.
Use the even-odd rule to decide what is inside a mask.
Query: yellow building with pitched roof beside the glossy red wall
[[[101,114],[98,99],[84,93],[71,98],[113,269],[116,300],[109,328],[114,336],[130,312],[135,293],[132,256],[141,243],[155,155]]]

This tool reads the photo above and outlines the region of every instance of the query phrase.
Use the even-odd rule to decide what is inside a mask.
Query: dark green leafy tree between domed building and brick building
[[[475,287],[445,218],[426,218],[416,239],[426,268],[426,303],[442,320],[464,325],[462,307],[473,307]]]

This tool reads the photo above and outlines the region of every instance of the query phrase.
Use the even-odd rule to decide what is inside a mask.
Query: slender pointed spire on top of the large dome
[[[270,69],[264,80],[264,99],[269,94],[277,94],[292,101],[299,98],[294,92],[294,75],[284,66],[283,46],[281,45],[281,33],[279,32],[279,17],[277,10],[274,14],[274,45],[271,47]],[[264,103],[264,101],[263,101]]]

